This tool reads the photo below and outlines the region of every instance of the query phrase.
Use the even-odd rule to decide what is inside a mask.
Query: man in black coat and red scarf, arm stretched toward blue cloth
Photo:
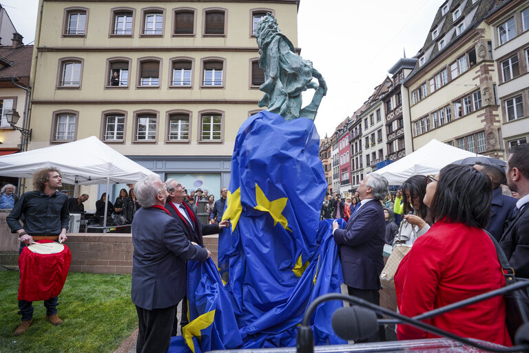
[[[229,226],[229,221],[221,221],[218,224],[203,225],[198,221],[195,211],[184,202],[186,193],[182,184],[174,179],[167,179],[165,185],[169,194],[167,197],[166,208],[171,216],[178,221],[189,241],[194,241],[195,243],[198,243],[198,245],[204,246],[203,235],[218,234],[222,228]],[[182,301],[180,326],[184,327],[187,323],[189,323],[187,321],[187,297],[184,297]],[[178,334],[177,324],[178,320],[175,318],[173,336]]]

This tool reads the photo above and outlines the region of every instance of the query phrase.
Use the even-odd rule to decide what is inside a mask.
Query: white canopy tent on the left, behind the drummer
[[[0,157],[0,175],[32,178],[41,168],[55,167],[61,171],[63,182],[81,185],[136,183],[154,172],[105,145],[97,137],[54,145],[38,150],[8,154]],[[107,223],[105,204],[104,225]]]

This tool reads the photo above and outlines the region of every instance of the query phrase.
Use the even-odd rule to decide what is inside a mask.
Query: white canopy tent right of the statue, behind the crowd
[[[386,177],[390,185],[400,185],[412,175],[437,174],[445,165],[459,159],[476,156],[481,156],[481,154],[461,150],[432,139],[422,148],[408,154],[403,159],[386,165],[373,173]]]

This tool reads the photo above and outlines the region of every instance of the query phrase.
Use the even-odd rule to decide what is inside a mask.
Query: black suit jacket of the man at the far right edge
[[[509,259],[517,277],[529,279],[529,202],[522,206],[501,236],[499,245]]]

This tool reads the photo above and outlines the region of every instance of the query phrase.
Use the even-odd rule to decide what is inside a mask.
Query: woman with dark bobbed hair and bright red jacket
[[[490,179],[468,165],[447,165],[428,175],[424,203],[435,224],[402,259],[395,273],[397,305],[415,316],[504,287],[495,246],[482,230],[490,215]],[[435,316],[424,322],[471,339],[511,345],[503,296]],[[426,339],[434,334],[397,326],[397,337]]]

